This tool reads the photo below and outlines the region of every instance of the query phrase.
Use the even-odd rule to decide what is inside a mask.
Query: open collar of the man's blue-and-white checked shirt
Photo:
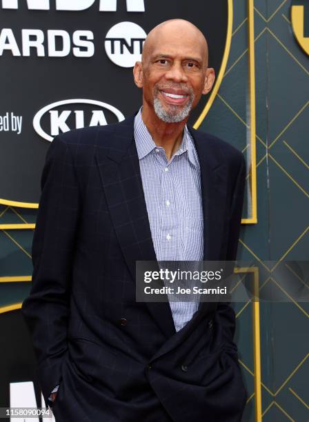
[[[152,139],[152,136],[148,131],[145,123],[143,123],[143,119],[141,119],[141,109],[142,108],[139,109],[139,112],[134,118],[134,139],[137,145],[137,154],[139,156],[139,160],[146,157],[146,155],[150,154],[150,152],[155,150],[155,148],[160,148],[155,144],[155,141]],[[187,125],[183,130],[181,145],[179,146],[177,152],[175,152],[175,155],[181,155],[186,151],[188,151],[188,159],[192,165],[199,168],[197,151],[195,150],[195,145]]]

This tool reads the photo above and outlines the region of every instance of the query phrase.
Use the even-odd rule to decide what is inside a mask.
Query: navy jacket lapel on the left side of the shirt
[[[156,261],[143,194],[139,157],[134,141],[134,117],[114,125],[114,132],[97,149],[97,165],[114,230],[135,282],[135,261]],[[106,152],[108,148],[108,152]],[[168,302],[147,302],[152,317],[166,336],[175,333]]]

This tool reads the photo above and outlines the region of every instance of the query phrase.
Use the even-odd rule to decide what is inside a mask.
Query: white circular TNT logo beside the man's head
[[[109,59],[121,66],[132,68],[141,60],[146,32],[137,23],[120,22],[112,26],[105,39],[105,50]]]

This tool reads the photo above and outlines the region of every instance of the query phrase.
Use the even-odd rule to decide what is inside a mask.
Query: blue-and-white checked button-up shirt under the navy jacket
[[[203,260],[201,178],[195,144],[187,126],[170,161],[141,119],[134,119],[143,192],[157,261]],[[181,330],[199,307],[199,298],[170,301],[175,329]]]

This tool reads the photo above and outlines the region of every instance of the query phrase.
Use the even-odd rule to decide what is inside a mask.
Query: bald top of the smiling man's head
[[[149,58],[153,54],[154,50],[168,39],[170,45],[173,41],[179,41],[179,37],[185,37],[186,40],[192,41],[195,48],[199,50],[201,57],[203,58],[203,66],[208,66],[208,44],[203,33],[193,25],[193,23],[184,19],[170,19],[159,23],[155,26],[146,37],[143,45],[143,53],[141,61],[143,64],[147,64]]]

